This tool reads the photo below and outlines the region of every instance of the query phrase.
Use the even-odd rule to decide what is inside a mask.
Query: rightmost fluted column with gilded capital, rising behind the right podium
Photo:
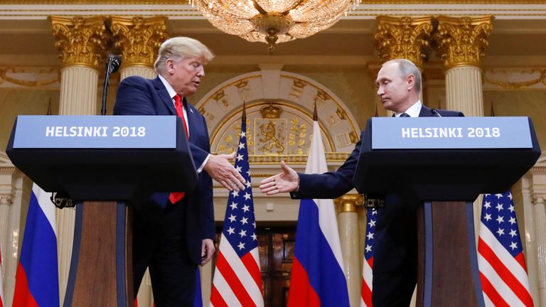
[[[493,30],[493,16],[438,16],[434,47],[446,69],[446,109],[463,112],[467,117],[483,117],[481,59]],[[476,240],[481,212],[481,197],[474,201]]]

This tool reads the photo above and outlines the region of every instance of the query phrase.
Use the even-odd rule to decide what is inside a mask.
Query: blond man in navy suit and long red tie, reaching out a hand
[[[134,295],[149,267],[156,306],[193,306],[196,268],[214,254],[212,179],[228,190],[244,190],[232,155],[211,155],[205,118],[186,102],[214,57],[193,38],[170,38],[159,48],[153,80],[127,77],[119,84],[114,114],[177,115],[188,137],[200,184],[195,191],[154,193],[134,212]],[[152,179],[153,180],[153,179]]]

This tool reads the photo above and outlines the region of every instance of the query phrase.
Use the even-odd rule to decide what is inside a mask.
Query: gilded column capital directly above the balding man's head
[[[378,31],[373,36],[375,47],[383,62],[406,58],[418,67],[423,66],[423,48],[429,45],[432,16],[378,16]]]

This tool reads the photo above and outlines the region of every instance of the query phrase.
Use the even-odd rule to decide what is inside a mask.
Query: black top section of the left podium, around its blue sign
[[[180,119],[176,149],[14,149],[16,126],[6,149],[11,162],[43,190],[73,200],[135,200],[198,184]]]

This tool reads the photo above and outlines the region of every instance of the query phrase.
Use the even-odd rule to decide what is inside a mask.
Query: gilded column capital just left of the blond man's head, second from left
[[[122,51],[125,65],[154,65],[161,43],[168,38],[167,19],[166,16],[112,16],[114,46]]]

